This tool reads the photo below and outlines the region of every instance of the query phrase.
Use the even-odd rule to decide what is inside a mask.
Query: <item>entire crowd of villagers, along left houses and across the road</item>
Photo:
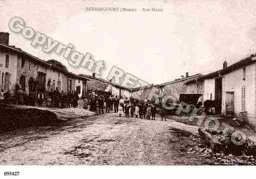
[[[133,97],[129,99],[125,97],[125,99],[121,96],[113,95],[84,95],[83,98],[83,108],[88,109],[88,105],[90,106],[89,110],[93,112],[98,112],[99,114],[115,112],[118,113],[120,117],[135,117],[141,119],[152,119],[155,120],[157,106],[154,101],[150,100],[139,100]],[[10,94],[8,92],[3,93],[0,92],[0,100],[5,101],[4,103],[8,103],[10,98]],[[45,90],[38,90],[37,93],[32,92],[27,95],[27,93],[21,90],[20,87],[17,86],[15,91],[15,99],[17,104],[25,104],[39,107],[43,104],[46,107],[53,108],[76,108],[78,107],[79,96],[76,91],[69,92],[59,92],[58,89],[50,90],[47,93]],[[163,113],[160,110],[160,115],[163,120]]]

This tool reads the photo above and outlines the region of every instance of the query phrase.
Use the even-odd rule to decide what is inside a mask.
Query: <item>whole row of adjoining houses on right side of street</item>
[[[219,101],[215,114],[238,116],[246,111],[248,121],[256,126],[256,55],[231,66],[224,62],[223,69],[190,80],[186,86],[188,93],[202,93],[202,101]]]

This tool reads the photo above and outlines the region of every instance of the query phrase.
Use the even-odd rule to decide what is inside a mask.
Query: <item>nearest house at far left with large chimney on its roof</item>
[[[38,86],[44,87],[44,77],[49,65],[20,48],[8,45],[8,33],[0,32],[0,40],[1,89],[14,90],[16,84],[27,92],[35,91]]]

